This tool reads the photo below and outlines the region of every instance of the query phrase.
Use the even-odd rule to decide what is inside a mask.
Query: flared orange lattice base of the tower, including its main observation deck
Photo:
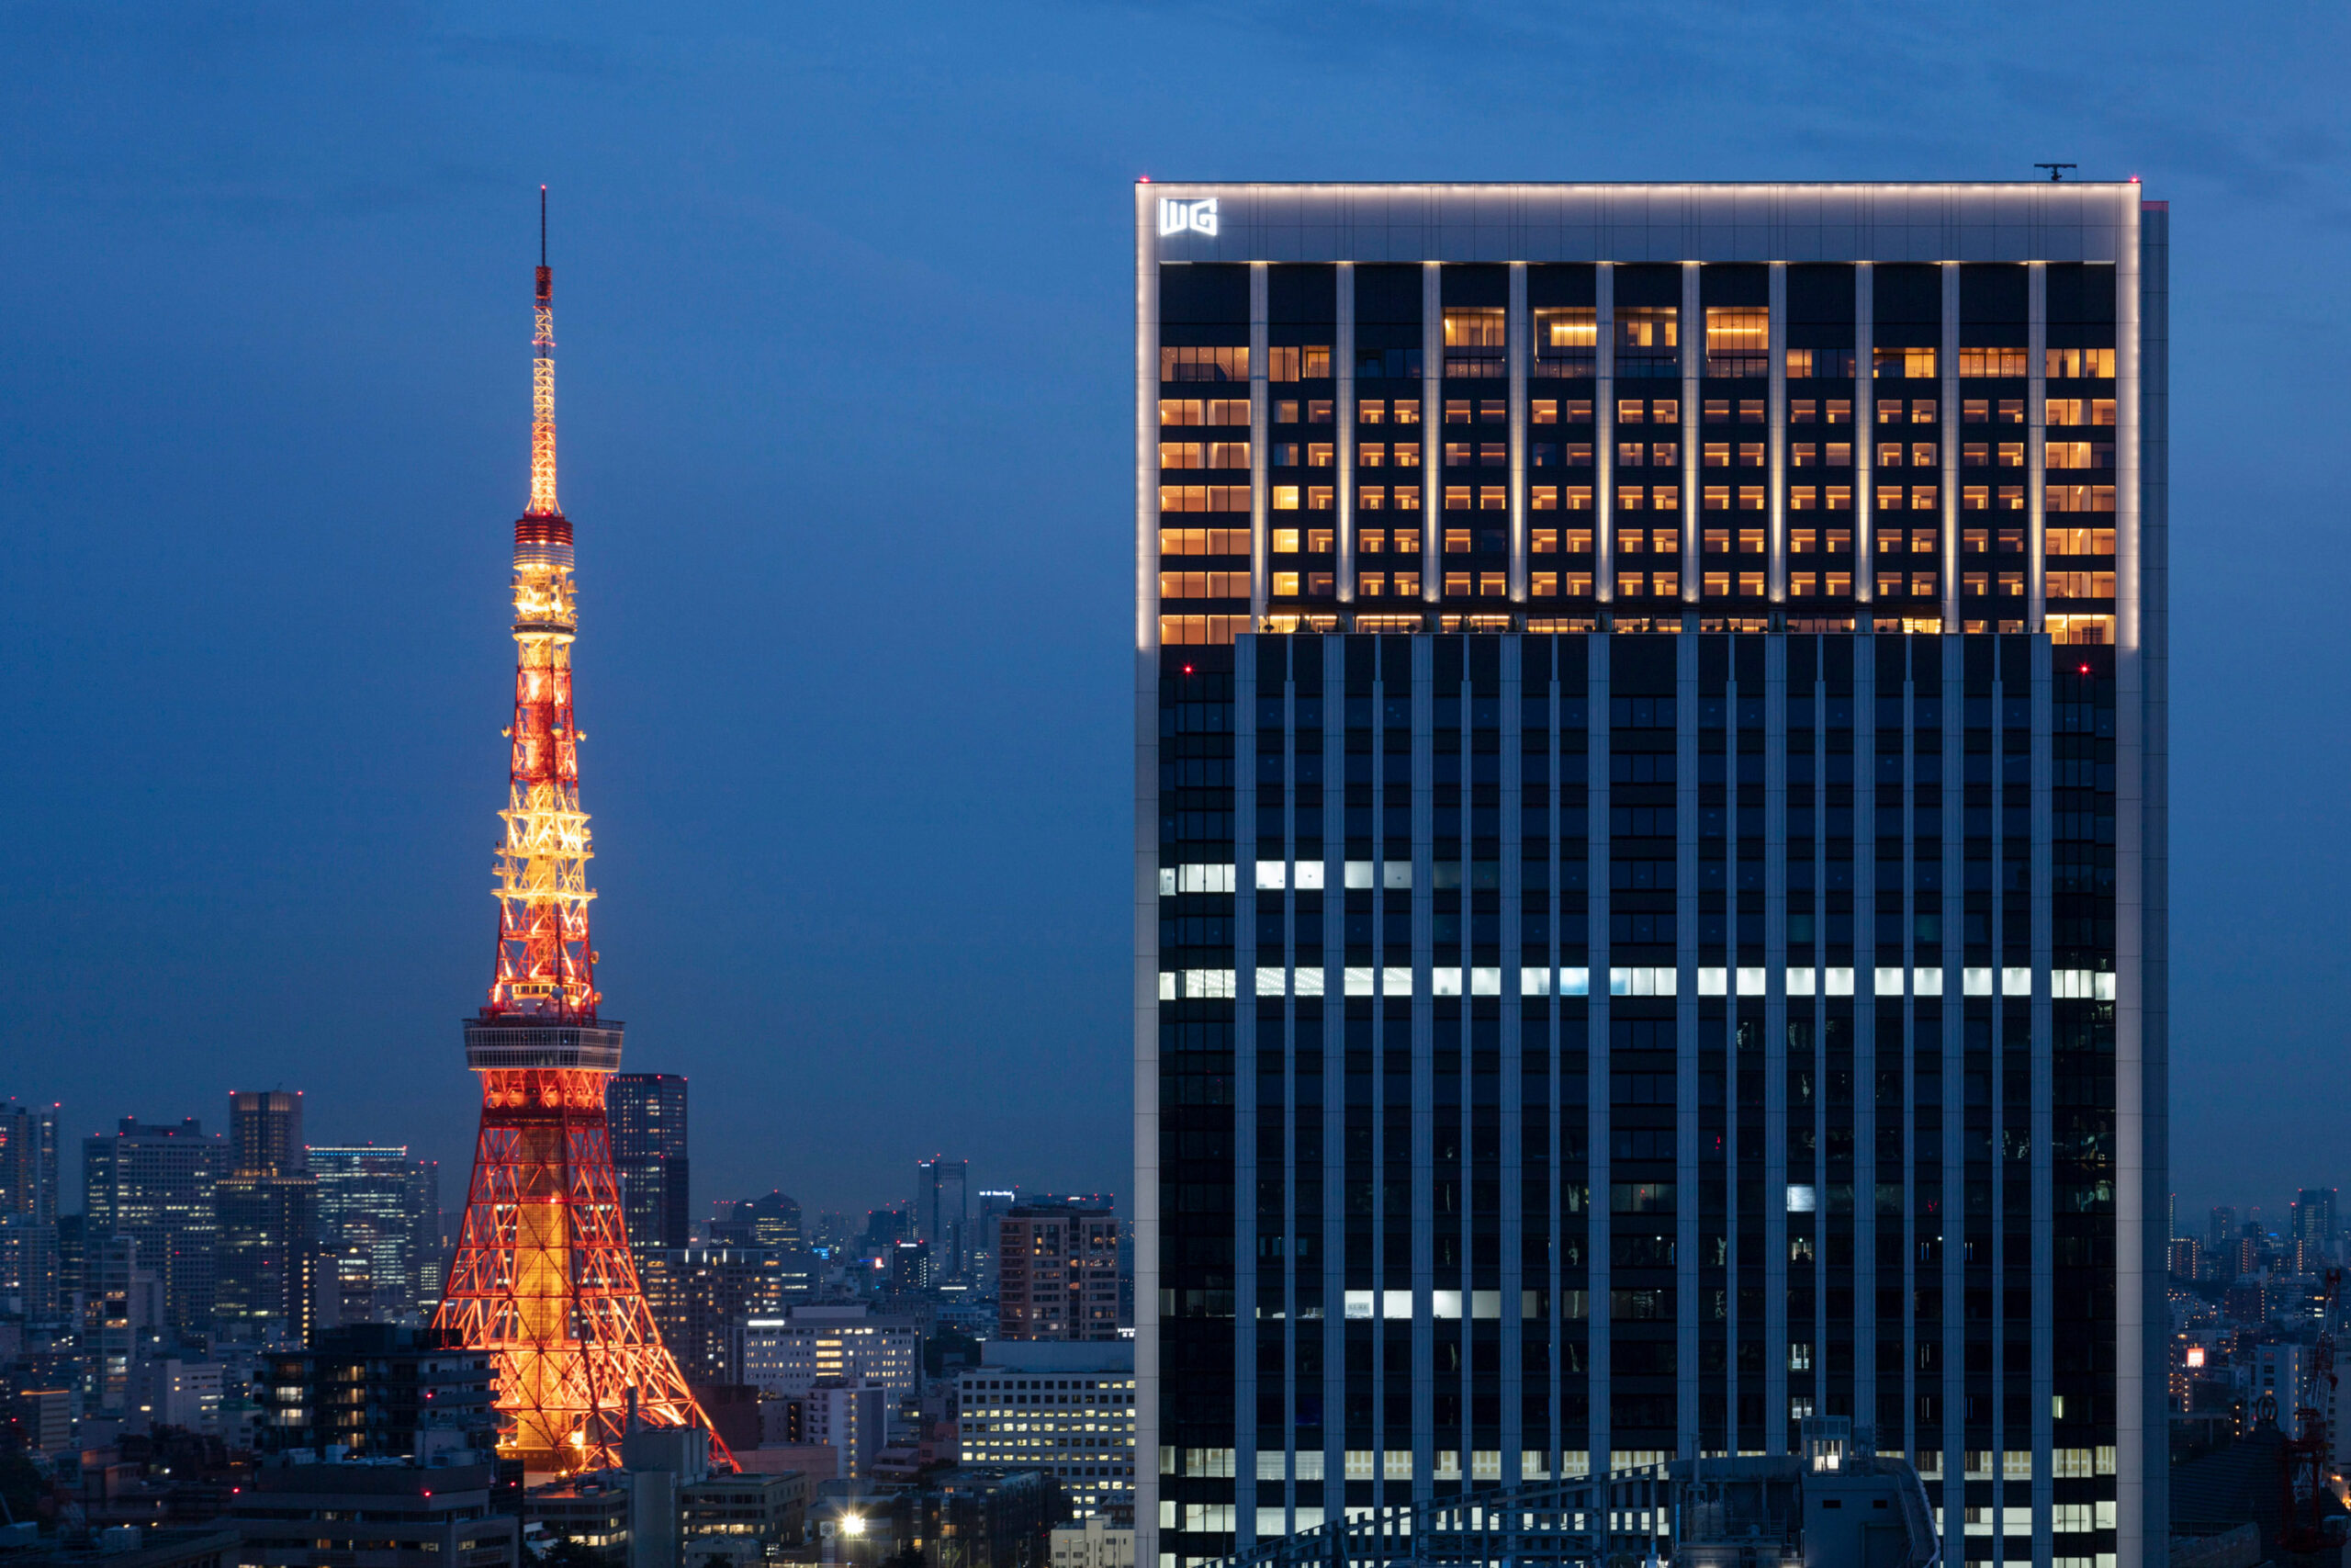
[[[562,1476],[618,1465],[632,1420],[708,1427],[621,1222],[604,1124],[621,1025],[468,1018],[465,1063],[482,1074],[482,1133],[435,1328],[491,1354],[501,1458]]]

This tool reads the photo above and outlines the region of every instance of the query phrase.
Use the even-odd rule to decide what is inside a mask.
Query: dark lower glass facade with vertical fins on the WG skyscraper
[[[2106,649],[1185,663],[1161,837],[1227,891],[1159,900],[1164,1554],[1815,1413],[1965,1519],[2111,1514]]]

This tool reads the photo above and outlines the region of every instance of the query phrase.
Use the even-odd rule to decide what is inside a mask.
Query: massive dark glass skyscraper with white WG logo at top
[[[1810,1415],[2161,1556],[2163,205],[1133,216],[1140,1561]]]

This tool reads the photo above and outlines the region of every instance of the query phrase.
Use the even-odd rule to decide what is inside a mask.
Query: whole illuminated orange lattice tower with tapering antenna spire
[[[588,813],[571,717],[571,520],[555,501],[555,273],[538,190],[531,334],[531,503],[515,520],[515,724],[498,844],[498,959],[465,1020],[482,1135],[435,1326],[487,1349],[498,1453],[527,1474],[621,1462],[621,1434],[708,1427],[663,1347],[621,1227],[604,1084],[621,1023],[602,1018],[588,940]],[[731,1462],[712,1436],[722,1462]]]

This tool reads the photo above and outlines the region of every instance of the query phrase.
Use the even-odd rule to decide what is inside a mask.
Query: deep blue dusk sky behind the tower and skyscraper
[[[2161,16],[2172,31],[2158,26],[2156,42],[2142,33],[2135,45],[2146,52],[2137,68],[2172,85],[2189,80],[2179,16]],[[1124,38],[1157,42],[1176,61],[1208,59],[1206,45],[1143,24],[1140,33],[1103,26],[1089,45]],[[1603,26],[1632,38],[1629,24]],[[2059,35],[2071,26],[2081,24],[2057,24]],[[1444,45],[1472,78],[1488,71],[1476,38],[1495,38],[1488,21],[1472,19],[1467,40]],[[1347,73],[1324,59],[1328,40],[1281,26],[1267,40],[1272,61],[1248,73],[1298,73],[1300,108],[1345,101]],[[181,42],[252,68],[237,40]],[[1869,33],[1867,42],[1918,66],[1963,45],[2022,63],[1965,31]],[[569,66],[564,45],[581,52]],[[985,40],[952,28],[945,45],[1002,63]],[[92,47],[66,38],[56,59],[87,59]],[[127,59],[132,75],[155,68],[146,45],[103,47],[129,52],[110,59]],[[386,63],[440,45],[397,33],[270,45],[313,47]],[[708,40],[684,47],[698,80],[729,78]],[[1733,80],[1721,56],[1688,40],[1665,47],[1712,80]],[[1846,47],[1862,45],[1836,45],[1829,59]],[[851,28],[828,49],[832,66],[856,66],[879,42]],[[19,56],[12,71],[24,73],[31,103],[73,125],[45,59]],[[783,1187],[809,1211],[863,1208],[903,1194],[912,1159],[947,1150],[990,1185],[1025,1166],[1039,1185],[1126,1192],[1117,1117],[1093,1128],[1058,1105],[1004,1093],[1006,1081],[1053,1081],[1089,1105],[1126,1098],[1124,952],[1117,936],[1105,938],[1121,929],[1112,900],[1124,795],[1119,748],[1103,743],[1124,729],[1103,656],[1117,646],[1119,616],[1103,607],[1119,599],[1126,541],[1100,524],[1121,498],[1110,454],[1126,395],[1119,355],[1098,350],[1117,341],[1126,277],[1124,235],[1100,212],[1105,193],[1136,172],[1255,169],[1265,158],[1251,143],[1281,127],[1265,118],[1218,127],[1206,103],[1166,87],[1131,110],[1081,94],[1037,129],[1098,122],[1114,134],[1039,169],[1027,132],[952,148],[950,132],[990,125],[990,108],[978,94],[947,94],[839,176],[788,179],[759,165],[738,186],[724,160],[679,153],[698,176],[677,195],[607,169],[609,143],[583,136],[581,110],[545,87],[548,73],[588,61],[642,73],[644,56],[623,40],[590,28],[508,63],[487,45],[475,59],[491,63],[468,71],[505,73],[496,80],[513,78],[534,108],[555,110],[489,176],[369,186],[400,172],[414,146],[360,129],[317,99],[287,96],[282,82],[268,101],[315,125],[355,174],[266,153],[230,127],[200,139],[202,167],[249,169],[249,179],[174,183],[186,172],[148,155],[103,174],[61,155],[24,176],[28,221],[7,247],[49,308],[14,327],[26,376],[9,393],[14,418],[0,447],[24,480],[12,487],[5,559],[9,621],[26,632],[7,682],[7,717],[26,745],[14,750],[0,802],[12,820],[45,832],[19,837],[0,863],[9,889],[0,922],[24,954],[24,983],[0,1013],[12,1041],[5,1088],[61,1100],[63,1131],[92,1133],[120,1114],[197,1114],[219,1131],[223,1084],[284,1084],[308,1091],[313,1133],[327,1143],[402,1143],[463,1168],[470,1128],[447,1093],[456,1081],[447,1025],[454,999],[475,985],[489,926],[480,851],[494,827],[482,811],[491,776],[482,750],[503,708],[480,583],[491,581],[482,567],[498,517],[522,489],[508,397],[513,329],[498,282],[527,233],[529,186],[548,179],[557,221],[576,212],[567,240],[576,256],[569,411],[585,433],[576,505],[611,548],[590,592],[602,642],[590,654],[597,696],[585,715],[604,769],[595,811],[614,827],[600,860],[600,917],[616,954],[628,954],[604,983],[614,1011],[635,1025],[630,1065],[705,1084],[698,1190]],[[2222,80],[2205,94],[2212,103],[2262,78],[2285,125],[2309,108],[2304,71],[2250,45],[2196,63]],[[480,92],[433,75],[447,63],[426,71],[435,82],[426,96]],[[2292,301],[2313,296],[2297,244],[2311,233],[2304,214],[2339,207],[2342,186],[2292,136],[2245,141],[2193,115],[2189,132],[2149,134],[2121,108],[2050,113],[2022,89],[2008,99],[2015,129],[1954,129],[1949,96],[1902,108],[1824,87],[1834,73],[1822,63],[1808,71],[1820,71],[1803,80],[1820,87],[1824,110],[1775,99],[1763,108],[1768,134],[1737,150],[1721,141],[1721,120],[1648,146],[1606,125],[1606,94],[1594,110],[1512,94],[1434,143],[1382,127],[1364,141],[1314,129],[1279,162],[1300,174],[1364,172],[1380,160],[1512,174],[1526,162],[1528,129],[1585,136],[1578,162],[1589,167],[1568,172],[1596,176],[1653,174],[1660,160],[1719,176],[2022,176],[2036,158],[2078,155],[2095,174],[2137,172],[2201,202],[2203,235],[2269,240],[2271,273],[2243,289],[2217,282],[2224,240],[2196,237],[2201,249],[2182,254],[2182,296],[2196,308],[2177,310],[2179,386],[2255,374],[2248,346],[2262,341],[2278,301],[2295,329],[2335,331],[2304,322]],[[122,122],[153,132],[200,106],[188,92],[167,94]],[[520,113],[503,108],[496,122]],[[865,115],[849,113],[844,125],[870,129]],[[1890,118],[1902,134],[1862,148],[1836,115]],[[421,136],[433,148],[461,141],[447,115],[426,115]],[[237,195],[247,186],[263,193],[259,207]],[[781,244],[778,292],[741,306],[729,280],[757,275],[757,252],[771,244]],[[1037,247],[1053,249],[1049,263]],[[129,292],[141,301],[139,329],[125,336],[113,317]],[[907,292],[947,303],[924,313],[922,329],[889,322],[891,301]],[[886,320],[884,357],[919,355],[936,369],[936,435],[877,433],[872,411],[898,393],[870,369],[865,334],[783,303],[816,296]],[[1058,322],[1072,296],[1096,324],[1065,339]],[[743,355],[738,306],[752,341],[773,353]],[[336,343],[331,369],[317,360],[324,341]],[[1037,343],[1049,346],[1044,355],[1032,355]],[[978,367],[1013,362],[1034,369],[1020,369],[1006,397],[1004,374]],[[2179,421],[2175,444],[2182,637],[2210,637],[2198,628],[2257,590],[2278,604],[2278,642],[2250,663],[2203,649],[2208,661],[2184,672],[2175,708],[2182,736],[2205,741],[2182,748],[2177,804],[2175,1185],[2191,1213],[2330,1180],[2302,1166],[2344,1112],[2332,1074],[2318,1070],[2337,1034],[2311,999],[2339,983],[2339,933],[2323,893],[2342,865],[2342,835],[2302,804],[2330,797],[2342,741],[2335,726],[2297,726],[2297,698],[2262,679],[2325,661],[2306,639],[2325,623],[2318,583],[2342,545],[2304,538],[2306,520],[2323,515],[2327,477],[2316,423],[2325,395],[2304,383],[2313,374],[2262,369],[2262,383],[2278,388],[2273,411],[2252,416],[2212,400],[2193,428]],[[230,395],[195,397],[214,386]],[[190,416],[190,402],[209,407]],[[750,402],[773,411],[717,416]],[[1030,421],[1020,407],[1046,418]],[[1070,423],[1084,440],[1037,433]],[[122,428],[141,433],[134,463],[73,461],[115,451]],[[947,456],[931,473],[978,475],[983,522],[997,527],[978,529],[980,543],[945,538],[938,552],[905,552],[917,611],[905,635],[875,646],[856,616],[832,609],[858,602],[870,562],[816,517],[858,517],[898,545],[938,538],[931,517],[952,512],[966,487],[924,477],[917,458],[931,442]],[[990,456],[1006,447],[1011,456]],[[442,477],[414,473],[423,468],[411,463],[416,451],[433,451]],[[2241,468],[2241,451],[2259,463]],[[851,477],[877,470],[903,484],[877,491]],[[2250,501],[2233,501],[2241,494]],[[341,510],[322,529],[327,496]],[[1020,522],[1023,508],[1034,517]],[[729,517],[762,522],[745,529]],[[2189,517],[2229,517],[2226,536],[2248,548],[2224,548],[2219,529]],[[748,567],[672,562],[694,555],[679,543],[696,529]],[[141,548],[118,550],[125,536]],[[2255,576],[2252,562],[2276,557],[2288,538],[2313,569]],[[364,616],[355,644],[348,611],[329,609],[322,588],[353,567],[397,602],[395,616]],[[978,607],[966,592],[973,581],[1020,614]],[[122,623],[136,635],[89,639],[82,628],[113,623],[89,597],[96,583],[134,609]],[[816,585],[806,630],[773,651],[731,630],[755,625],[783,583]],[[922,677],[940,668],[952,670],[950,684],[926,689]],[[346,689],[376,693],[374,733],[322,745],[313,719],[296,715]],[[167,759],[169,790],[155,790],[155,769],[129,766],[118,750],[103,715],[122,691],[146,693],[162,715],[141,755]],[[915,722],[870,724],[870,712],[893,703]],[[762,752],[748,773],[712,780],[705,748],[743,715],[788,715],[809,745]],[[964,769],[938,766],[943,745],[980,757],[973,776],[1013,785],[973,790]],[[2266,752],[2280,802],[2233,811],[2226,759],[2252,750]],[[830,776],[802,759],[813,755],[856,766]],[[738,856],[743,820],[771,825],[748,856]],[[966,832],[971,823],[992,827],[980,835],[987,842]],[[78,846],[101,832],[118,849],[85,856]],[[341,846],[334,860],[355,867],[357,882],[310,875],[303,858],[322,844]],[[331,898],[320,882],[336,884]],[[715,945],[684,917],[703,898],[731,917]],[[317,931],[346,919],[360,922],[362,947],[379,957],[339,971],[339,994],[362,1001],[364,1018],[329,1032],[313,1006],[313,947]],[[141,961],[127,966],[125,952]],[[710,1032],[703,999],[715,973],[785,994],[788,1030],[724,1023]],[[2278,973],[2309,983],[2259,980]],[[327,1051],[334,1041],[350,1048]],[[113,1063],[122,1051],[136,1051],[146,1079],[136,1095],[120,1091]],[[416,1100],[386,1103],[395,1079],[386,1063],[426,1086]],[[49,1077],[31,1072],[49,1065]],[[712,1079],[734,1093],[708,1093]],[[795,1105],[828,1114],[802,1128]],[[875,1124],[903,1124],[905,1138],[868,1154],[863,1138],[830,1131]],[[804,1147],[795,1157],[806,1164],[771,1168],[764,1150],[778,1133]],[[1023,1150],[1037,1157],[1018,1159]],[[78,1168],[66,1175],[68,1190],[78,1178]]]

